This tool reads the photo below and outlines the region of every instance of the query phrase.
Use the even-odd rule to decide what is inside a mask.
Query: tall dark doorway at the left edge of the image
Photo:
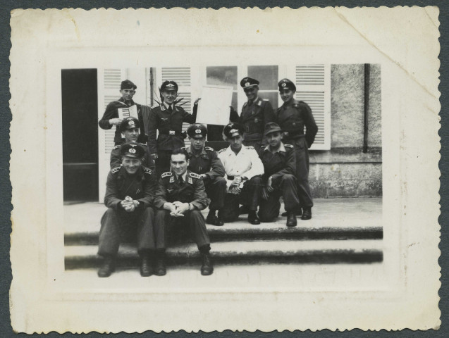
[[[98,200],[97,69],[64,69],[62,142],[64,201]]]

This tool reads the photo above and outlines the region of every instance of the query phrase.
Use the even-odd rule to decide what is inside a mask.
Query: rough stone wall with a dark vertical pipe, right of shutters
[[[364,154],[364,65],[331,66],[331,150],[310,151],[314,198],[382,196],[380,65],[370,65],[369,82]]]

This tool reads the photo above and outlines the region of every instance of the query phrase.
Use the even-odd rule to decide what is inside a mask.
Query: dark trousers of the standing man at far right
[[[285,144],[292,144],[295,149],[296,156],[296,180],[297,180],[297,196],[300,199],[302,208],[312,208],[312,194],[309,187],[309,147],[304,137],[297,139],[285,139]]]

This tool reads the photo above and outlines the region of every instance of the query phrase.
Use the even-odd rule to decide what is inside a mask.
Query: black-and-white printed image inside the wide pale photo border
[[[61,70],[66,270],[383,261],[381,66],[257,63]]]

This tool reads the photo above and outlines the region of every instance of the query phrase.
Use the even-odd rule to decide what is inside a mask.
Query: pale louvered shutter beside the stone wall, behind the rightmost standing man
[[[331,149],[331,72],[329,65],[296,65],[296,99],[310,108],[318,133],[311,149]]]

